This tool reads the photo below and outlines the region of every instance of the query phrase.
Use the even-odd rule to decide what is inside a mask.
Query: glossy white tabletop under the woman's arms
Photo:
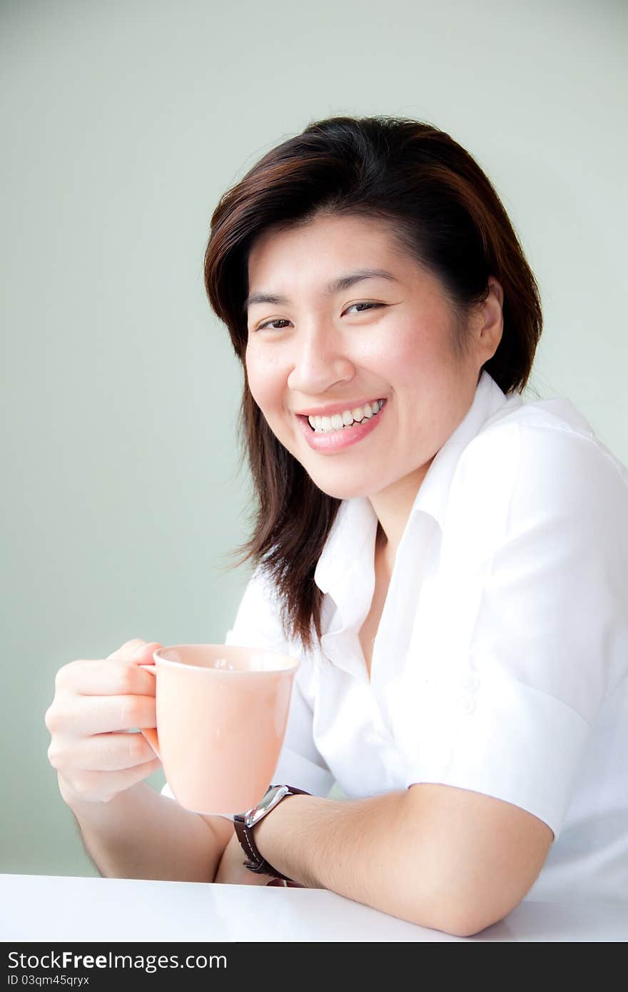
[[[628,904],[524,900],[505,920],[457,937],[324,889],[0,875],[0,940],[624,941]]]

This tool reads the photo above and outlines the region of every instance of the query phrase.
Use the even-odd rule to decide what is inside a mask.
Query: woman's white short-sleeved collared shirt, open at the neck
[[[366,497],[342,501],[314,572],[320,651],[285,640],[259,567],[227,632],[301,659],[273,781],[496,797],[555,834],[526,898],[628,901],[626,467],[568,400],[483,370],[415,499],[369,680],[376,530]]]

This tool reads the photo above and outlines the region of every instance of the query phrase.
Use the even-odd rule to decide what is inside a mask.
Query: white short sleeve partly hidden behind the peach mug
[[[301,648],[286,640],[281,626],[277,596],[259,566],[248,580],[224,643],[268,648],[300,659],[301,664],[293,682],[286,736],[273,783],[295,786],[313,796],[326,797],[333,785],[334,777],[314,745],[314,694],[317,673],[314,671],[313,663],[303,657]],[[168,785],[162,789],[162,795],[172,797]]]

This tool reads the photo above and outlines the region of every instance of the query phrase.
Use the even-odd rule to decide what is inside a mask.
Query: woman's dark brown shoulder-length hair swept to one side
[[[340,500],[323,493],[278,441],[251,395],[245,365],[248,255],[273,228],[318,214],[379,219],[403,250],[440,280],[464,353],[466,318],[504,291],[503,333],[484,368],[504,393],[526,386],[543,326],[539,288],[495,189],[475,160],[429,123],[400,117],[331,117],[282,142],[221,197],[211,217],[204,279],[212,310],[244,371],[238,434],[256,496],[253,535],[232,555],[252,558],[277,591],[286,637],[314,647],[322,592],[314,582]]]

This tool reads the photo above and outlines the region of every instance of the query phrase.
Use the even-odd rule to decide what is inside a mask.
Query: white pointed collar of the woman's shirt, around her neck
[[[507,397],[482,369],[469,410],[440,447],[426,473],[410,512],[411,520],[420,512],[427,513],[442,530],[451,479],[463,449],[493,415],[503,413],[505,404],[516,407],[522,403],[518,393]],[[342,500],[314,570],[314,582],[321,592],[332,589],[358,563],[362,562],[363,566],[364,547],[369,543],[374,548],[376,532],[377,516],[368,497]]]

